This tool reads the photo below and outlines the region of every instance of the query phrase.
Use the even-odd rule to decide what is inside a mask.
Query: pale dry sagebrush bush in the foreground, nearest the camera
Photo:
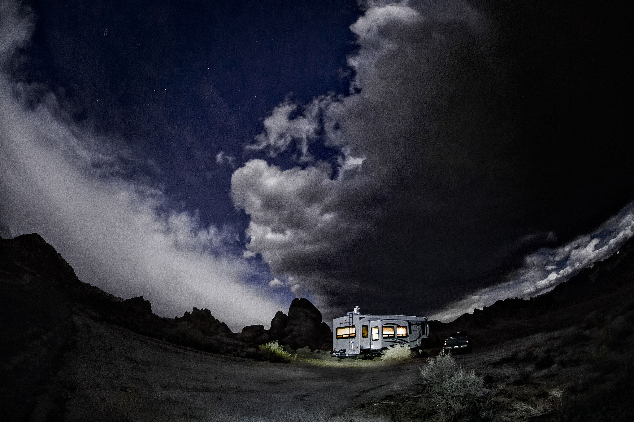
[[[451,354],[429,357],[420,376],[425,386],[421,404],[430,420],[455,421],[487,413],[484,379],[456,365]]]

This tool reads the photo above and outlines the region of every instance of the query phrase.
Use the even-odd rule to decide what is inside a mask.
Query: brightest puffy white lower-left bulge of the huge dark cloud
[[[251,216],[247,248],[279,270],[288,261],[335,253],[359,228],[342,221],[337,185],[326,165],[283,171],[260,159],[246,162],[231,177],[231,195]]]

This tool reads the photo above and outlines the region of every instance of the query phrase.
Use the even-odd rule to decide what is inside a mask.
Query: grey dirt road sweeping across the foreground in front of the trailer
[[[65,421],[381,420],[355,416],[350,408],[417,382],[423,363],[254,362],[73,318],[73,346],[48,393],[38,397],[34,421],[46,419],[55,403]]]

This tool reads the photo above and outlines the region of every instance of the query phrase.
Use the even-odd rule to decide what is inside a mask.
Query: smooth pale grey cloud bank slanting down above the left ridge
[[[15,3],[0,11],[6,64],[32,20]],[[50,93],[27,107],[36,88],[0,77],[0,218],[11,234],[38,232],[80,279],[122,297],[142,294],[159,315],[205,307],[236,330],[283,309],[264,286],[244,281],[253,269],[226,248],[235,230],[204,227],[160,187],[127,177],[136,164],[126,148],[60,117]]]

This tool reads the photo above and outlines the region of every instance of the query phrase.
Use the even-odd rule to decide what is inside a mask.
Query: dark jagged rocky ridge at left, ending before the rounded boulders
[[[0,275],[5,286],[30,285],[36,280],[39,289],[43,289],[42,286],[53,288],[76,312],[145,336],[209,352],[258,356],[256,348],[231,333],[229,327],[214,318],[208,309],[193,308],[181,318],[163,318],[152,312],[152,304],[143,296],[123,300],[82,282],[67,261],[38,234],[0,239]],[[32,287],[22,288],[25,292],[29,289]],[[47,310],[36,308],[32,313],[34,318],[41,314],[44,319]]]

